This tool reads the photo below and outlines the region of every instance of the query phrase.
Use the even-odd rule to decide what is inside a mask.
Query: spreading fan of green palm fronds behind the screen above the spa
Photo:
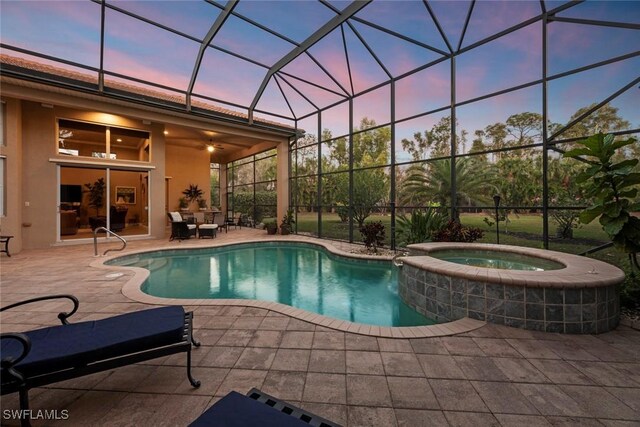
[[[493,167],[462,157],[455,163],[456,206],[489,206],[497,191]],[[399,186],[405,205],[451,206],[451,159],[412,166]]]

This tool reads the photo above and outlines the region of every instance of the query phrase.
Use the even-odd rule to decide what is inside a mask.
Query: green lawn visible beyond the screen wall
[[[486,215],[484,214],[462,214],[460,216],[461,222],[466,226],[478,227],[485,231],[484,237],[478,242],[480,243],[495,243],[496,242],[496,229],[487,226],[483,221]],[[542,248],[542,216],[536,214],[527,215],[511,215],[510,223],[505,227],[504,222],[500,222],[500,243],[506,245],[516,246],[528,246],[534,248]],[[317,227],[318,214],[313,213],[298,213],[297,229],[299,233],[311,233],[318,234]],[[391,216],[390,215],[371,215],[367,218],[369,221],[382,221],[386,230],[386,244],[391,241],[390,229],[391,229]],[[549,234],[555,235],[556,224],[553,220],[549,221]],[[518,235],[518,233],[525,233],[525,235]],[[552,238],[549,241],[549,249],[568,252],[568,253],[580,253],[588,249],[591,249],[600,244],[605,244],[609,241],[607,235],[602,231],[600,224],[597,221],[593,221],[591,224],[582,225],[580,228],[574,230],[574,239],[556,239]],[[349,239],[349,223],[343,223],[337,214],[324,213],[322,214],[322,237],[331,239],[348,240]],[[353,239],[355,242],[361,242],[361,236],[358,232],[358,225],[354,224]],[[580,239],[588,239],[588,242],[580,241]],[[600,242],[600,243],[597,243]],[[600,251],[591,255],[594,258],[618,265],[619,267],[625,267],[628,265],[626,255],[620,254],[613,248]]]

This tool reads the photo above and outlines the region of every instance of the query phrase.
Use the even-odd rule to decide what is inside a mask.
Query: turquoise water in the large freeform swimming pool
[[[239,244],[125,256],[110,265],[142,267],[142,291],[163,298],[275,301],[377,326],[435,323],[398,296],[390,262],[340,257],[315,245]]]

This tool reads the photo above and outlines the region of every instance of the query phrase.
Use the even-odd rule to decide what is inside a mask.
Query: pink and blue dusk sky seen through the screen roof
[[[188,37],[201,40],[218,17],[219,8],[204,1],[109,1],[109,4],[172,27]],[[341,10],[348,2],[331,1]],[[547,9],[564,2],[546,1]],[[430,5],[450,45],[460,41],[468,1],[435,1]],[[0,36],[3,44],[58,57],[88,67],[100,64],[100,5],[91,1],[7,1],[0,3]],[[235,13],[281,34],[279,38],[231,16],[213,39],[212,45],[239,53],[263,66],[207,49],[194,94],[202,94],[248,107],[268,67],[320,28],[336,13],[312,1],[240,1]],[[541,13],[539,1],[478,1],[469,21],[462,48]],[[558,16],[635,23],[640,22],[638,1],[587,1]],[[337,81],[332,81],[306,54],[286,65],[279,73],[278,87],[271,80],[257,108],[291,117],[281,90],[296,116],[311,113],[389,80],[385,71],[367,51],[354,30],[366,41],[392,76],[442,58],[447,44],[421,1],[376,0],[356,15],[351,25],[336,28],[309,49]],[[385,27],[414,39],[382,32]],[[344,42],[348,51],[345,56]],[[640,51],[640,31],[576,23],[554,22],[548,26],[549,75]],[[107,8],[105,19],[104,67],[106,71],[186,90],[200,48],[196,40],[183,37]],[[3,54],[38,60],[10,49]],[[512,86],[542,78],[542,23],[535,22],[498,40],[456,57],[456,99],[462,102]],[[348,64],[348,65],[347,65]],[[92,73],[64,64],[58,67]],[[640,56],[549,82],[549,118],[566,123],[578,108],[599,102],[640,75]],[[323,90],[291,77],[300,77],[329,89]],[[108,77],[107,77],[108,78]],[[138,83],[133,83],[139,85]],[[342,86],[342,87],[340,87]],[[345,93],[344,91],[347,91]],[[450,62],[447,60],[396,82],[396,118],[402,119],[450,103]],[[385,86],[354,99],[354,121],[368,116],[377,123],[390,120],[390,89]],[[614,100],[620,115],[640,126],[640,93],[636,87]],[[345,104],[346,105],[346,104]],[[470,134],[523,111],[542,112],[541,85],[460,106],[458,120]],[[245,111],[246,112],[246,111]],[[399,138],[426,129],[443,114],[398,124]],[[445,113],[444,115],[448,115]],[[273,119],[272,117],[270,117]],[[282,119],[276,119],[282,121]],[[312,129],[310,120],[299,126]],[[415,123],[415,125],[414,125]],[[323,128],[334,135],[348,131],[348,109],[344,105],[323,113]],[[415,129],[414,129],[415,127]],[[413,129],[413,130],[412,130]]]

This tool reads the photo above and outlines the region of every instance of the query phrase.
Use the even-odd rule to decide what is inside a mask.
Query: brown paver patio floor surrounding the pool
[[[130,241],[125,252],[261,236],[243,229],[214,241]],[[131,273],[108,276],[117,268],[92,268],[94,260],[91,245],[3,256],[2,305],[70,293],[80,300],[71,321],[148,307],[122,295]],[[640,332],[626,327],[572,336],[486,325],[454,337],[393,339],[255,307],[187,308],[202,342],[193,351],[199,389],[188,383],[184,354],[174,355],[34,389],[32,409],[66,409],[69,418],[33,424],[186,425],[230,390],[256,387],[349,426],[640,425]],[[56,324],[62,309],[48,302],[10,310],[2,331]],[[17,395],[0,403],[17,409]]]

